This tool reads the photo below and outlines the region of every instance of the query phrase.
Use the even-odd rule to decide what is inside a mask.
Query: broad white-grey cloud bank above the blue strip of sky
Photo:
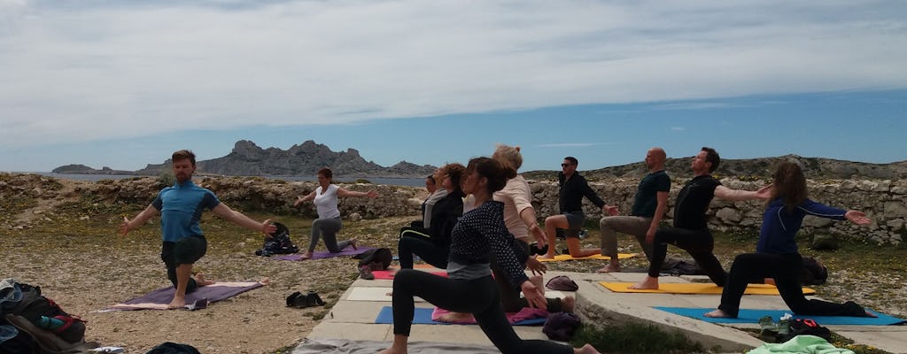
[[[903,88],[891,6],[0,1],[0,146]]]

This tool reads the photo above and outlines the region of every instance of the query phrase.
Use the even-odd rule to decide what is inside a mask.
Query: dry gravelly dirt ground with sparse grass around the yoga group
[[[295,347],[327,314],[337,298],[356,280],[356,261],[348,257],[289,262],[258,257],[261,236],[231,225],[210,213],[202,218],[209,239],[208,254],[196,270],[215,281],[269,279],[269,285],[219,301],[201,311],[102,311],[152,290],[169,286],[160,260],[158,219],[121,237],[115,234],[123,215],[135,215],[144,206],[104,205],[73,193],[63,181],[60,197],[36,200],[27,207],[6,210],[0,229],[0,277],[41,286],[44,295],[65,311],[87,321],[86,340],[144,353],[165,341],[190,344],[203,353],[276,353]],[[288,225],[297,245],[307,243],[311,220],[293,215],[262,215]],[[340,237],[357,237],[360,244],[395,249],[396,230],[414,217],[345,221]],[[629,237],[619,240],[624,252],[639,252]],[[592,230],[586,246],[598,246]],[[721,246],[718,246],[721,244]],[[637,248],[634,249],[634,246]],[[717,240],[716,254],[729,266],[733,255],[750,251],[755,238]],[[324,245],[319,244],[318,249]],[[858,254],[822,255],[829,264],[829,284],[815,287],[833,301],[854,300],[875,310],[907,316],[902,250],[860,246]],[[674,250],[671,250],[674,251]],[[879,265],[867,263],[872,254]],[[644,258],[641,258],[645,261]],[[875,263],[873,263],[875,264]],[[590,272],[594,262],[553,263],[554,270]],[[627,267],[644,266],[631,260]],[[291,309],[291,292],[316,291],[327,301],[324,308]]]

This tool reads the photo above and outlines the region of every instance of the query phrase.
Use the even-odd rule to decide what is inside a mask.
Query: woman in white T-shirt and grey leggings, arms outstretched
[[[302,254],[301,259],[312,258],[312,253],[315,252],[315,246],[320,238],[325,239],[327,251],[332,254],[343,251],[346,246],[352,246],[353,249],[356,249],[355,238],[337,242],[337,232],[343,227],[343,222],[340,220],[340,210],[337,209],[337,197],[368,196],[375,198],[378,196],[378,193],[374,190],[368,192],[346,190],[333,184],[333,178],[334,173],[331,172],[330,168],[321,168],[318,170],[318,187],[307,196],[297,197],[296,203],[293,204],[293,206],[299,206],[303,202],[311,200],[318,213],[318,218],[312,222],[312,234],[308,242],[308,249],[305,254]]]

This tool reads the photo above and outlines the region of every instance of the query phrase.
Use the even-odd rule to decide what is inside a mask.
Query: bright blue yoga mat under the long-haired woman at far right
[[[708,311],[713,311],[715,309],[702,309],[702,308],[687,308],[687,307],[661,307],[655,306],[655,309],[661,311],[668,311],[675,313],[681,316],[686,316],[689,318],[694,318],[697,320],[707,321],[711,323],[759,323],[759,319],[765,316],[772,316],[772,319],[778,321],[781,319],[785,313],[790,313],[794,315],[790,310],[748,310],[740,309],[740,312],[737,314],[736,319],[716,319],[711,317],[703,316]],[[858,325],[858,326],[888,326],[892,324],[898,324],[904,322],[904,320],[886,315],[884,313],[879,313],[876,311],[873,312],[876,318],[873,317],[850,317],[850,316],[801,316],[794,315],[795,319],[813,319],[818,322],[820,325],[826,326],[831,324],[839,325]]]

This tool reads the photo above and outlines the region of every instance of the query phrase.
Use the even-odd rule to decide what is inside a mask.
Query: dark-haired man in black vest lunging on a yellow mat
[[[674,206],[674,227],[658,229],[654,234],[651,240],[652,260],[649,262],[649,275],[641,282],[631,285],[630,289],[658,289],[658,274],[661,272],[661,263],[668,255],[668,244],[686,250],[712,282],[717,286],[725,285],[727,273],[715,258],[715,254],[712,254],[715,239],[712,238],[706,221],[708,205],[713,197],[742,201],[766,199],[769,195],[767,187],[751,192],[721,186],[721,182],[711,175],[720,162],[721,158],[714,148],[702,148],[693,157],[690,168],[695,177],[680,189]],[[648,236],[646,241],[649,242]]]

